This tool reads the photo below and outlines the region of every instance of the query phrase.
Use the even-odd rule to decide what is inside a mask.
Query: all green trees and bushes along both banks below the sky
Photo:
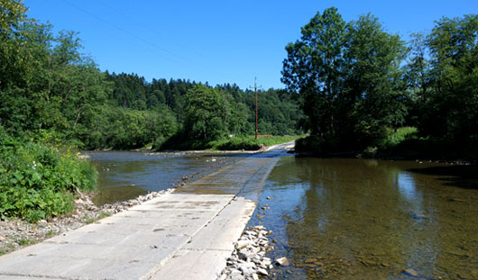
[[[78,33],[0,3],[0,218],[72,210],[97,172],[84,149],[257,149],[254,93],[234,84],[99,70]],[[317,13],[286,46],[285,89],[258,93],[259,134],[296,150],[478,158],[478,16],[441,18],[403,41],[378,18]]]

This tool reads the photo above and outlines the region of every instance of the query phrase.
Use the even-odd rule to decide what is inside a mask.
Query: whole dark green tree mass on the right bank
[[[282,70],[311,133],[299,149],[390,149],[405,125],[418,131],[396,145],[433,142],[453,150],[446,156],[476,157],[477,15],[442,18],[409,46],[371,14],[345,23],[334,7],[317,13],[301,34],[286,47]]]

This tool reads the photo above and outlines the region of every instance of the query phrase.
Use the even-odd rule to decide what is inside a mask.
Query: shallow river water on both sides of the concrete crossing
[[[273,231],[268,257],[290,259],[270,279],[478,279],[477,167],[284,155],[257,185],[249,222]],[[100,171],[98,204],[248,157],[90,156]]]

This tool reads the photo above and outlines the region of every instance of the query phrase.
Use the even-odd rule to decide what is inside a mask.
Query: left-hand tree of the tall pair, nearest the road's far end
[[[308,117],[306,130],[322,139],[336,131],[334,111],[341,93],[344,67],[345,22],[335,7],[317,13],[301,29],[301,38],[287,47],[281,81],[301,96]]]

